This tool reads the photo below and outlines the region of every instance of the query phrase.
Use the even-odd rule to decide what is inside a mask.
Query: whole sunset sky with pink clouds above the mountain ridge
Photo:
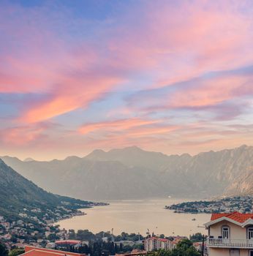
[[[0,0],[0,155],[253,146],[253,2]]]

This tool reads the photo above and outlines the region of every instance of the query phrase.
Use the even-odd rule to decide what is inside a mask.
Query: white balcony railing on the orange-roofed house
[[[253,239],[208,238],[207,246],[223,247],[223,248],[251,248],[251,249],[253,249]]]

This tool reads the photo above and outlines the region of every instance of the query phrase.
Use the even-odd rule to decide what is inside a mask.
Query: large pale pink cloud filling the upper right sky
[[[238,10],[228,3],[149,2],[142,20],[131,31],[123,26],[110,48],[121,63],[152,74],[149,87],[246,66],[253,59],[252,20]]]

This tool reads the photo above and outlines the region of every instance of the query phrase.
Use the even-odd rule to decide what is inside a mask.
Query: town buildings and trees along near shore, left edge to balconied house
[[[72,216],[74,215],[69,215],[69,217]],[[37,222],[37,225],[34,225],[34,222]],[[191,239],[197,251],[200,252],[202,249],[206,251],[206,244],[201,242],[201,234],[193,235]],[[162,249],[173,250],[178,243],[184,240],[188,240],[188,238],[185,236],[155,236],[154,233],[148,233],[146,237],[124,232],[114,236],[110,231],[93,234],[88,230],[78,230],[75,233],[75,230],[61,229],[53,222],[44,223],[38,219],[33,219],[32,222],[25,222],[21,219],[17,222],[7,222],[4,217],[0,217],[0,241],[10,251],[32,246],[37,249],[57,249],[65,252],[83,252],[89,255],[88,252],[90,252],[92,244],[99,244],[100,241],[105,248],[108,246],[110,255],[120,255],[120,253],[147,255],[148,252]]]

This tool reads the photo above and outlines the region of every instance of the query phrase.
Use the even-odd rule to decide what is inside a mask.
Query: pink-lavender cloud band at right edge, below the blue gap
[[[220,109],[221,113],[225,111],[227,114],[231,109],[240,114],[240,109],[249,105],[246,98],[253,95],[252,83],[251,71],[216,72],[161,89],[136,93],[129,98],[129,108],[143,113],[180,109],[219,113]],[[233,115],[230,116],[233,118]]]

